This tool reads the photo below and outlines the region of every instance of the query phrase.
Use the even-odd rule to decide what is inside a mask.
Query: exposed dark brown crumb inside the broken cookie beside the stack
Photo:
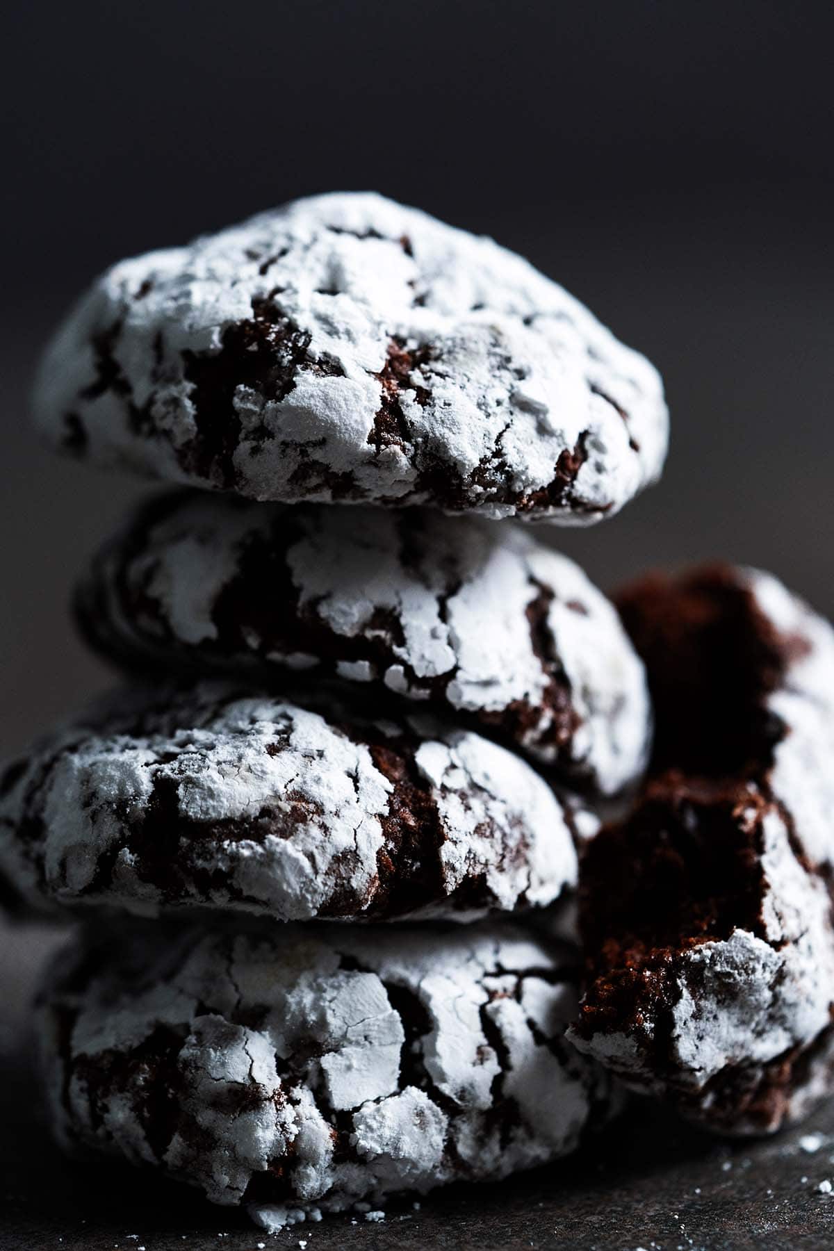
[[[655,748],[630,813],[601,831],[581,864],[588,985],[576,1028],[586,1038],[631,1033],[656,1077],[674,1082],[668,1010],[680,956],[735,928],[765,933],[761,822],[775,806],[774,747],[788,732],[768,696],[808,644],[779,634],[743,577],[723,565],[649,575],[625,588],[618,608],[646,666]],[[788,1081],[780,1073],[776,1085]],[[761,1103],[771,1127],[773,1102],[738,1073],[723,1100],[729,1127],[733,1091],[748,1116]]]

